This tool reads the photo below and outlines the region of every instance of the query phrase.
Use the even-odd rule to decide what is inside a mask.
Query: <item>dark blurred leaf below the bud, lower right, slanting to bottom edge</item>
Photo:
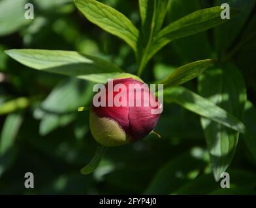
[[[195,179],[206,162],[202,159],[204,151],[194,150],[199,151],[197,156],[200,157],[195,157],[195,151],[191,151],[170,160],[159,169],[144,194],[170,194]]]

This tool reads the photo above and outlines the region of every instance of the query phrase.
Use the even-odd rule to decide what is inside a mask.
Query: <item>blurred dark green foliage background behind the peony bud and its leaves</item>
[[[101,2],[140,25],[138,1]],[[164,25],[224,2],[242,12],[215,29],[168,44],[147,65],[142,79],[150,83],[183,64],[221,57],[244,77],[251,102],[244,122],[256,135],[255,1],[171,0]],[[25,3],[33,3],[35,19],[24,18]],[[90,23],[72,0],[0,0],[0,194],[256,193],[256,149],[249,151],[240,136],[227,170],[231,188],[220,188],[209,165],[200,116],[172,103],[165,104],[156,128],[161,139],[149,135],[109,148],[93,174],[81,175],[97,143],[89,132],[88,112],[78,113],[77,108],[89,105],[93,83],[27,68],[4,53],[14,48],[78,51],[110,60],[129,73],[137,69],[131,48]],[[209,87],[214,85],[208,80]],[[185,86],[197,92],[198,81]],[[24,187],[25,172],[34,174],[35,188]]]

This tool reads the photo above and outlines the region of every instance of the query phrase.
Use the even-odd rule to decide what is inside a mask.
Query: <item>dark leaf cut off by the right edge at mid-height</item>
[[[244,111],[244,123],[248,132],[244,135],[244,140],[251,154],[256,159],[256,108],[250,101],[246,102],[246,109]]]

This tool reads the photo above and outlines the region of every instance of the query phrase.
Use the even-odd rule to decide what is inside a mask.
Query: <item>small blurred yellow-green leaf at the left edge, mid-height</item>
[[[8,114],[17,110],[25,109],[29,106],[29,99],[27,98],[16,98],[6,101],[5,103],[0,103],[0,115]]]

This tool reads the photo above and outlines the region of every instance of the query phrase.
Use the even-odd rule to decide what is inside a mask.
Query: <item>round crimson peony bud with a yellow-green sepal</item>
[[[109,80],[95,94],[89,119],[91,134],[103,146],[135,142],[155,128],[159,108],[161,103],[148,85],[139,77],[125,73]]]

